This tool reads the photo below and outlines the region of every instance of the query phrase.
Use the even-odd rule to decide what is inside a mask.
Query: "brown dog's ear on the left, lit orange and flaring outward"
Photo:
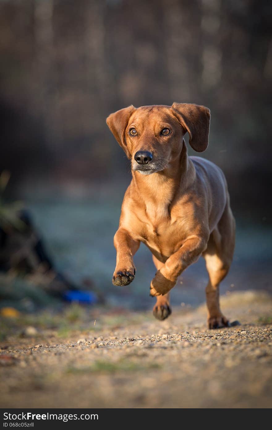
[[[136,108],[131,104],[124,109],[120,109],[120,111],[110,114],[106,120],[110,131],[116,138],[121,148],[125,151],[125,154],[128,159],[131,158],[131,154],[128,151],[128,147],[125,141],[125,129],[128,125],[128,120],[131,117],[132,112],[134,112],[135,110]]]

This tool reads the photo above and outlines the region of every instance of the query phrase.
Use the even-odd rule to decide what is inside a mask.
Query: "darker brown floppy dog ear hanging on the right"
[[[209,143],[210,110],[198,104],[173,103],[172,110],[181,125],[189,133],[189,144],[197,152],[203,152]]]

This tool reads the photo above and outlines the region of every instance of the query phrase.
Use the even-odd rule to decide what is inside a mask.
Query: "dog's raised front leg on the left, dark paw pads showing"
[[[133,255],[140,246],[139,240],[132,239],[124,228],[119,228],[113,240],[116,249],[116,268],[113,273],[113,285],[124,286],[130,284],[135,275]]]

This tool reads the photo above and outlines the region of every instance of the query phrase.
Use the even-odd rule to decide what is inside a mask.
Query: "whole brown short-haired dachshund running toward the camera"
[[[219,283],[228,273],[235,245],[235,220],[223,172],[200,157],[188,157],[183,136],[202,152],[208,146],[210,111],[196,104],[173,103],[121,109],[107,125],[131,160],[132,181],[122,203],[113,284],[124,286],[135,276],[133,255],[143,242],[157,272],[150,295],[153,314],[171,314],[169,291],[189,264],[202,255],[208,327],[228,326],[219,306]]]

